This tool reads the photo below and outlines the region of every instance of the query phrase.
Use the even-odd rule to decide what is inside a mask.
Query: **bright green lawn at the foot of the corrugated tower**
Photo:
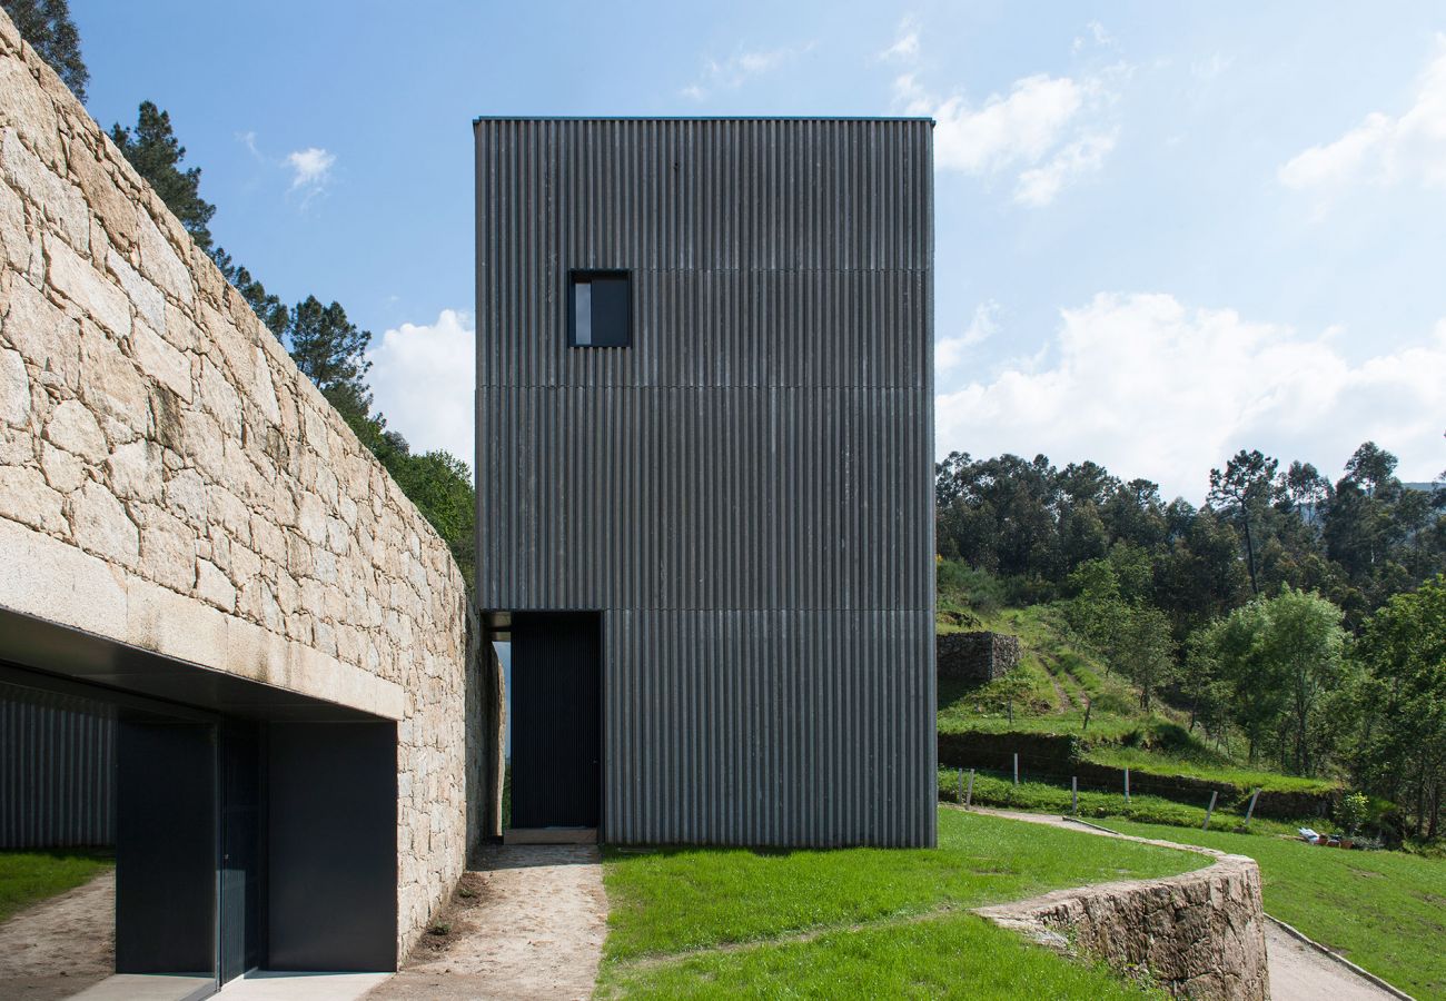
[[[823,997],[849,982],[860,995],[1124,995],[1100,971],[960,911],[1206,864],[949,809],[938,814],[937,849],[613,848],[602,992]],[[996,952],[1012,959],[989,962]],[[1017,978],[1002,969],[1014,959]]]

